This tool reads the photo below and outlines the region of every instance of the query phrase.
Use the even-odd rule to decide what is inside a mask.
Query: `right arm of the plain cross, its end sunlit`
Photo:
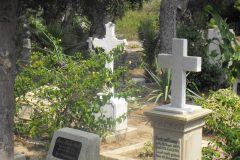
[[[201,65],[202,65],[202,58],[201,57],[190,57],[185,56],[183,58],[183,69],[184,71],[192,71],[192,72],[200,72]]]

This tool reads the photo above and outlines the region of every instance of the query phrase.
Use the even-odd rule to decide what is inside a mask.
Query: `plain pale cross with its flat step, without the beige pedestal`
[[[174,38],[172,54],[159,54],[158,62],[162,68],[172,69],[172,83],[171,104],[156,107],[156,110],[189,113],[200,109],[186,104],[186,71],[201,71],[201,57],[187,56],[187,40]]]

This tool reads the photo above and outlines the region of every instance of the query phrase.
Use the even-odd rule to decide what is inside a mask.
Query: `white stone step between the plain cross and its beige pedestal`
[[[186,104],[183,108],[177,108],[175,106],[172,106],[171,104],[162,105],[154,108],[155,111],[176,113],[176,114],[189,114],[189,113],[198,111],[200,109],[202,109],[201,106],[188,105],[188,104]]]

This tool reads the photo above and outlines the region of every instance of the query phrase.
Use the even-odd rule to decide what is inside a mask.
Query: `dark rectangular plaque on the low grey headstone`
[[[53,149],[53,156],[63,160],[78,160],[82,143],[58,137]]]

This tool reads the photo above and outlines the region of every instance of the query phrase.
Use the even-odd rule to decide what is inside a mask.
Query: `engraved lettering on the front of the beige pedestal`
[[[180,143],[179,140],[156,136],[156,159],[157,160],[179,160]]]

